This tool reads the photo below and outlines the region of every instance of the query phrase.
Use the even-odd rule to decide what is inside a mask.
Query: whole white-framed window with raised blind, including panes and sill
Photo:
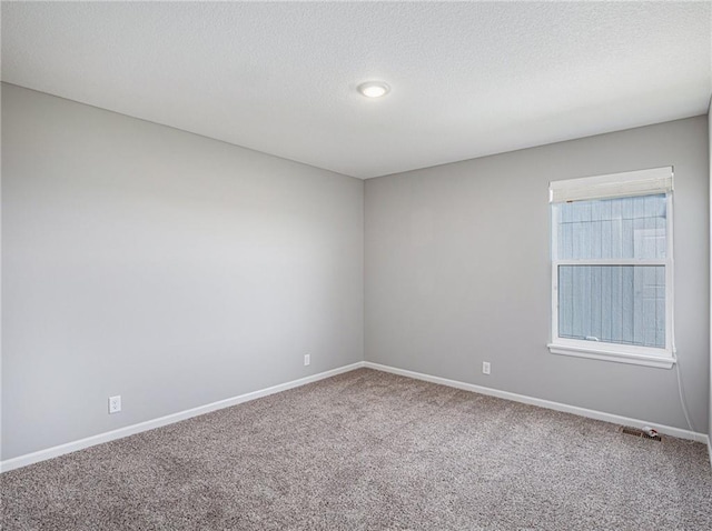
[[[553,181],[556,354],[671,368],[672,168]]]

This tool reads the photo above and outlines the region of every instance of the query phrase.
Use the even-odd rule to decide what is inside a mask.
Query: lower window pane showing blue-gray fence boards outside
[[[558,337],[665,348],[665,266],[560,266]]]

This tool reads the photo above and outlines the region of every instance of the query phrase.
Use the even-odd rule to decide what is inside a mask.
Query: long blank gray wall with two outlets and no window
[[[363,181],[7,84],[2,133],[2,459],[363,360]]]

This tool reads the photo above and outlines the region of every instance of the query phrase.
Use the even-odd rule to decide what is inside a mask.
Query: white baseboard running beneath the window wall
[[[589,419],[603,420],[614,424],[630,425],[634,428],[643,428],[644,425],[654,427],[660,433],[666,435],[678,437],[680,439],[689,439],[702,443],[710,444],[710,440],[705,433],[698,433],[695,431],[683,430],[681,428],[674,428],[672,425],[661,425],[657,422],[644,421],[640,419],[630,419],[627,417],[621,417],[612,413],[604,413],[603,411],[595,411],[592,409],[578,408],[576,405],[568,405],[560,402],[552,402],[550,400],[537,399],[527,397],[525,394],[516,394],[508,391],[500,391],[497,389],[485,388],[482,385],[475,385],[474,383],[459,382],[457,380],[448,380],[446,378],[432,377],[429,374],[423,374],[421,372],[408,371],[405,369],[397,369],[395,367],[382,365],[379,363],[373,363],[370,361],[364,362],[364,367],[368,369],[375,369],[377,371],[392,372],[393,374],[399,374],[402,377],[414,378],[416,380],[424,380],[426,382],[439,383],[451,388],[463,389],[465,391],[473,391],[481,394],[487,394],[490,397],[497,397],[506,400],[513,400],[515,402],[522,402],[531,405],[538,405],[540,408],[553,409],[555,411],[562,411],[565,413],[573,413],[580,417],[587,417]],[[712,462],[712,447],[710,447],[710,458]]]

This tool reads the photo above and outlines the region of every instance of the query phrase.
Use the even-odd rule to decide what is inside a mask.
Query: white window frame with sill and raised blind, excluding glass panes
[[[654,168],[550,183],[550,203],[666,194],[666,252],[665,259],[583,259],[558,260],[558,226],[551,221],[552,246],[552,337],[548,350],[553,354],[574,355],[595,360],[633,363],[670,369],[675,362],[674,301],[673,301],[673,169]],[[553,212],[553,208],[551,208]],[[664,266],[665,267],[665,347],[641,347],[603,341],[586,341],[558,337],[558,267],[560,266]]]

